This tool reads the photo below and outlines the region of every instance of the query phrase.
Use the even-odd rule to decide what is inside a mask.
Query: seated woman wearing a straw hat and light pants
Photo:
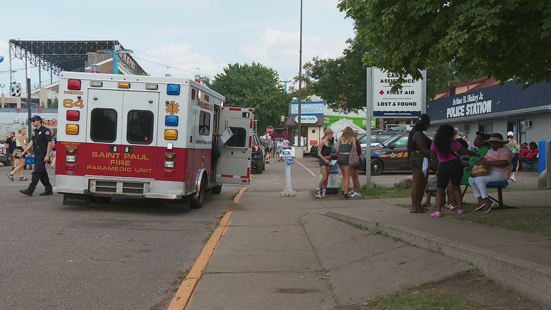
[[[486,213],[490,212],[494,205],[488,196],[486,185],[490,182],[509,179],[514,155],[508,147],[505,147],[505,143],[509,141],[503,140],[501,133],[492,133],[484,142],[490,143],[490,149],[484,157],[480,158],[480,163],[488,164],[490,171],[486,175],[469,178],[469,184],[473,188],[474,196],[478,198],[478,206],[474,210],[482,209],[482,212]]]

